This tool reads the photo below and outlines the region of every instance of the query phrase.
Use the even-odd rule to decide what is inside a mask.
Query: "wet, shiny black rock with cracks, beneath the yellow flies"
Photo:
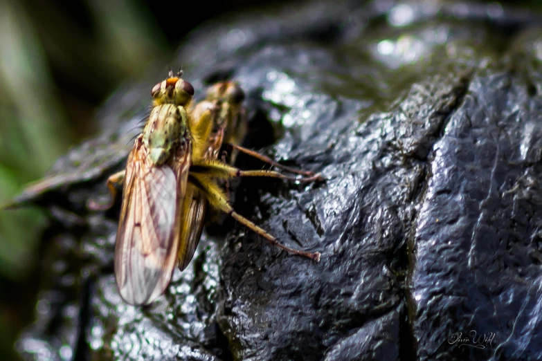
[[[163,75],[112,98],[105,135],[19,198],[52,220],[37,322],[17,344],[24,357],[541,359],[542,31],[530,27],[541,18],[432,4],[240,15],[179,50],[200,98],[212,82],[240,82],[247,147],[327,178],[246,178],[233,202],[289,246],[321,252],[320,263],[226,221],[158,302],[123,304],[112,275],[118,205],[96,213],[87,200],[123,167],[127,129]]]

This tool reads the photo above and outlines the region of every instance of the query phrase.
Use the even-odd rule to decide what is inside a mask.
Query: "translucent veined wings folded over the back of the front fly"
[[[178,205],[186,192],[190,147],[179,160],[186,165],[150,164],[139,138],[129,154],[115,248],[116,281],[129,304],[159,297],[177,263]]]

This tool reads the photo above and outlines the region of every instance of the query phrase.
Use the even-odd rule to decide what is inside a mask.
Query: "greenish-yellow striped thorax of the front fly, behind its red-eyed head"
[[[152,109],[143,130],[143,145],[152,164],[162,165],[170,160],[185,130],[186,112],[182,107],[163,104]]]

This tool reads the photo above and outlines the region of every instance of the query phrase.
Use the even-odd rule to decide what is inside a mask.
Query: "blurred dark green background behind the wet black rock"
[[[253,7],[249,0],[0,0],[0,204],[95,135],[96,110],[122,82],[143,77],[150,64],[165,69],[201,22]],[[0,211],[0,360],[17,359],[12,344],[33,320],[45,221],[37,209]]]

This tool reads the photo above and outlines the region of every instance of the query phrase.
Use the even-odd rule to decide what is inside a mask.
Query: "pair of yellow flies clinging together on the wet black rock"
[[[234,176],[295,178],[267,170],[242,171],[218,160],[224,139],[235,143],[244,137],[246,124],[238,92],[242,91],[236,84],[226,84],[226,92],[213,98],[212,88],[208,100],[192,110],[194,88],[181,76],[170,72],[168,79],[154,86],[149,120],[134,142],[126,169],[107,180],[113,196],[114,185],[124,183],[115,276],[120,295],[129,304],[150,304],[170,283],[175,265],[181,270],[188,266],[201,237],[208,204],[287,252],[320,259],[319,252],[282,245],[229,205],[219,180]],[[249,149],[232,146],[276,164]],[[320,178],[310,172],[299,173],[310,175],[300,179],[305,182]]]

